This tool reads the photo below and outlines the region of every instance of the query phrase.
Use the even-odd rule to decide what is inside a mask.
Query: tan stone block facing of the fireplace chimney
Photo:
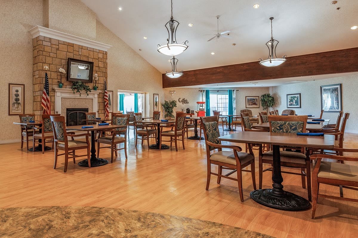
[[[43,113],[41,101],[46,72],[44,66],[47,65],[49,67],[47,75],[51,112],[56,113],[54,111],[55,91],[53,88],[58,87],[58,81],[60,80],[63,83],[63,87],[71,88],[72,86],[72,81],[67,81],[67,73],[62,74],[58,71],[59,68],[63,68],[67,72],[68,58],[93,62],[93,75],[98,74],[97,86],[98,90],[102,90],[98,95],[98,116],[104,117],[103,94],[104,83],[107,79],[107,52],[49,37],[38,36],[33,39],[33,113],[36,115],[35,120],[40,120],[40,116]],[[94,80],[92,83],[86,83],[86,85],[92,89],[93,85],[95,85]],[[85,98],[86,94],[82,93],[82,97]],[[61,113],[61,111],[58,113]]]

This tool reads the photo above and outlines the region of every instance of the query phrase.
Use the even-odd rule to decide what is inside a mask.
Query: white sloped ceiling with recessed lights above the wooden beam
[[[160,72],[171,71],[170,56],[160,54],[165,44],[164,27],[170,19],[170,0],[82,0],[98,19]],[[273,35],[280,41],[277,56],[358,47],[358,0],[173,0],[173,16],[180,22],[178,42],[189,48],[178,55],[177,69],[193,70],[266,59],[266,42]],[[260,7],[254,9],[253,4]],[[122,11],[118,10],[122,7]],[[337,10],[340,7],[340,10]],[[219,31],[231,30],[232,39],[207,42]],[[193,27],[188,24],[193,23]],[[143,39],[147,37],[147,40]],[[232,44],[235,43],[236,46]],[[139,51],[141,49],[141,51]],[[215,55],[211,55],[215,52]]]

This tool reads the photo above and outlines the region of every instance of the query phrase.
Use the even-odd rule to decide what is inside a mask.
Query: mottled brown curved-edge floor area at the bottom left
[[[0,237],[241,237],[265,234],[167,214],[103,207],[0,208]]]

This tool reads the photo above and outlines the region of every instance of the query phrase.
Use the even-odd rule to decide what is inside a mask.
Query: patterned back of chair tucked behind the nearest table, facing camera
[[[275,133],[306,132],[307,116],[269,116],[270,131]]]

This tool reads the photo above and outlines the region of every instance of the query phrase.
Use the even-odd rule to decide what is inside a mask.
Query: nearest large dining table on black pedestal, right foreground
[[[307,199],[284,191],[284,186],[282,185],[284,179],[281,175],[280,146],[328,150],[334,148],[334,135],[297,136],[295,133],[243,131],[221,136],[219,137],[219,141],[272,145],[274,163],[272,175],[272,181],[274,181],[274,183],[272,184],[272,188],[254,190],[250,193],[250,196],[255,202],[264,206],[288,211],[306,210],[309,209],[311,205]]]

